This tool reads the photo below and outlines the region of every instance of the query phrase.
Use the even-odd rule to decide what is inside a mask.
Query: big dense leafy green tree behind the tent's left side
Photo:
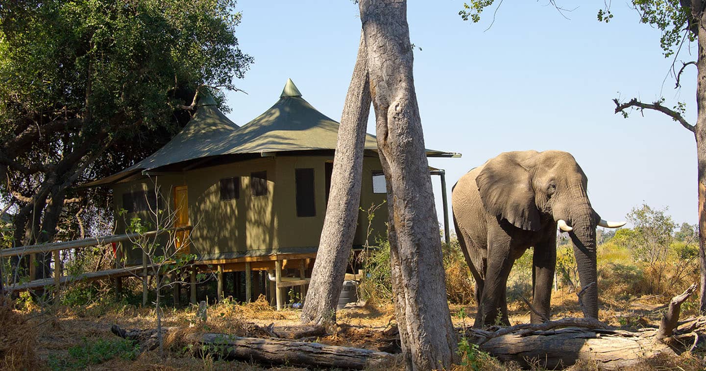
[[[156,150],[205,86],[234,89],[253,61],[234,6],[0,0],[0,197],[16,205],[16,245],[51,241],[81,213],[100,219],[104,190],[74,185]]]

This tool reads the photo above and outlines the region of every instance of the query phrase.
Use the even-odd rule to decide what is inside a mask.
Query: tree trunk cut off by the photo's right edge
[[[699,1],[700,2],[700,1]],[[706,14],[698,15],[700,22],[706,21]],[[696,107],[694,126],[696,139],[696,160],[698,162],[699,195],[699,260],[700,260],[700,312],[706,314],[706,30],[698,27],[698,56],[696,68]]]

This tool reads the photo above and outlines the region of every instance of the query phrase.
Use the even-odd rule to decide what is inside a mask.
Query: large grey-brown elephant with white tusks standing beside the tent
[[[582,310],[598,318],[596,227],[625,222],[601,219],[587,195],[587,177],[568,152],[503,152],[453,186],[456,236],[476,281],[474,327],[509,325],[507,281],[515,260],[532,256],[532,323],[549,319],[556,267],[557,226],[569,233],[585,287]],[[499,322],[499,323],[498,323]]]

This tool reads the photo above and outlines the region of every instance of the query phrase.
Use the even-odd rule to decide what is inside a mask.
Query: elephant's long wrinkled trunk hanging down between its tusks
[[[585,210],[583,210],[585,209]],[[578,217],[571,218],[569,232],[581,281],[580,303],[584,317],[598,318],[598,280],[596,272],[596,221],[590,204],[582,207]]]

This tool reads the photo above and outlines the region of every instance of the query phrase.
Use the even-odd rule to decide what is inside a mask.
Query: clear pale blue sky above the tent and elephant
[[[614,114],[611,99],[640,97],[687,104],[695,121],[695,68],[681,90],[668,77],[671,59],[659,31],[638,23],[616,2],[609,24],[596,13],[603,1],[561,1],[564,18],[541,1],[505,1],[486,31],[457,15],[462,1],[409,1],[414,81],[427,148],[461,152],[460,159],[430,159],[446,170],[448,191],[474,166],[511,150],[571,152],[589,178],[594,209],[604,219],[625,219],[643,202],[669,207],[678,223],[695,224],[696,152],[693,134],[658,112]],[[578,7],[578,8],[577,8]],[[279,98],[292,78],[309,103],[340,120],[360,36],[352,1],[240,0],[241,49],[255,58],[229,92],[228,114],[243,125]],[[695,45],[679,61],[695,59]],[[666,78],[666,80],[665,80]],[[373,117],[369,133],[375,133]],[[432,178],[441,221],[438,177]],[[452,228],[453,229],[453,228]]]

